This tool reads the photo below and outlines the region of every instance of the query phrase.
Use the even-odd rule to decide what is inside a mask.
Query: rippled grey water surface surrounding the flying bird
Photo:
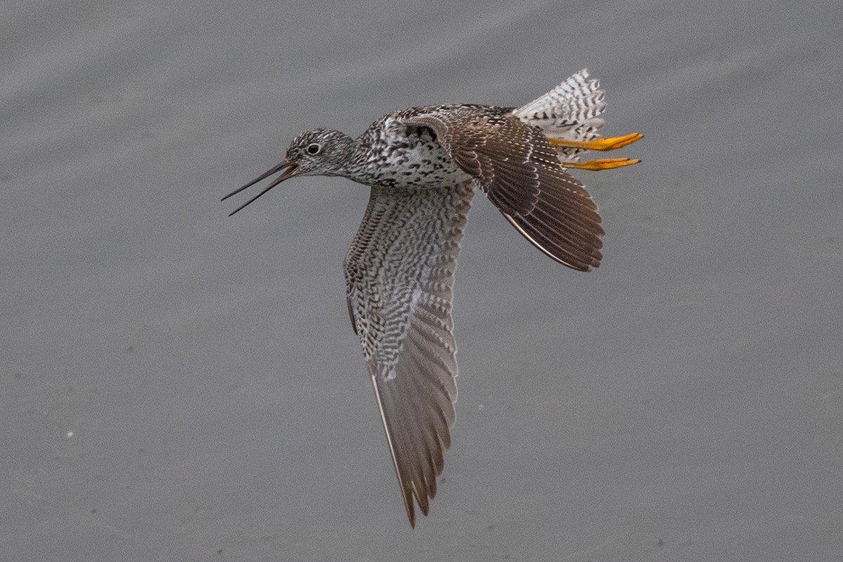
[[[4,3],[0,559],[843,559],[843,8]],[[588,66],[581,274],[475,199],[407,525],[341,260],[367,201],[219,198],[299,132]],[[245,195],[245,194],[244,194]]]

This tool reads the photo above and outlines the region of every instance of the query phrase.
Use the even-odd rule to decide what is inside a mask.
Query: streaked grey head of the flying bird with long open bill
[[[232,211],[229,217],[285,179],[297,175],[345,175],[346,166],[351,161],[354,148],[354,139],[340,131],[314,129],[314,131],[302,133],[290,143],[290,147],[287,148],[287,156],[281,163],[223,197],[223,201],[225,201],[228,197],[239,193],[250,185],[255,185],[261,179],[266,179],[283,170],[283,173],[266,189]]]

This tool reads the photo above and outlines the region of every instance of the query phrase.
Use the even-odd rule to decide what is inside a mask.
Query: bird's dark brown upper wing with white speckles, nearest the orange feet
[[[433,107],[396,118],[430,128],[459,168],[545,254],[577,270],[600,265],[604,230],[597,206],[538,129],[511,110],[488,106]]]

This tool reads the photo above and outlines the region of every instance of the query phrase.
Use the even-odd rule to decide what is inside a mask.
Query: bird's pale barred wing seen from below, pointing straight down
[[[436,495],[457,399],[451,302],[474,185],[373,187],[345,260],[348,309],[410,524]]]

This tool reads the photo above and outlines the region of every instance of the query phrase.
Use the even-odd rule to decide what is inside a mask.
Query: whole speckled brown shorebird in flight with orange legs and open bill
[[[368,365],[411,527],[427,515],[450,447],[457,376],[451,319],[454,270],[479,187],[536,248],[575,270],[600,265],[604,234],[591,195],[567,169],[642,137],[601,138],[599,81],[582,70],[521,108],[429,105],[376,120],[356,139],[316,129],[277,166],[223,197],[282,172],[240,211],[286,179],[343,176],[371,188],[344,269],[348,313]],[[415,498],[415,502],[414,502]]]

